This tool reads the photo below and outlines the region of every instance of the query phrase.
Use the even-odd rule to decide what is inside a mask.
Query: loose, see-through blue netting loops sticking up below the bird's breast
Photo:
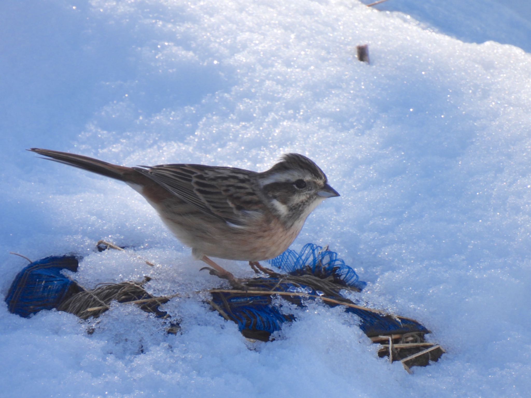
[[[299,253],[295,252],[295,250],[287,249],[280,256],[269,260],[269,263],[292,275],[309,272],[322,278],[335,276],[347,286],[352,286],[359,290],[362,290],[367,285],[366,282],[359,280],[356,271],[346,265],[341,258],[337,258],[336,252],[323,250],[321,246],[313,243],[304,245]]]

